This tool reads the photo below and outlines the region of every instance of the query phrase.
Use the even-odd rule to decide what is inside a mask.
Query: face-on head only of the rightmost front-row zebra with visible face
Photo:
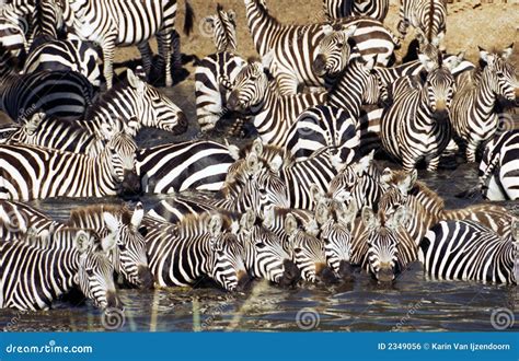
[[[368,245],[362,266],[379,282],[392,282],[403,270],[399,231],[406,222],[406,218],[405,207],[400,207],[390,216],[380,211],[374,214],[368,207],[362,209],[361,219],[366,228],[364,236]]]

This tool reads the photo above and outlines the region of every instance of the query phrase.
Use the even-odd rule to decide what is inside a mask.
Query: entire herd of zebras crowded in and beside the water
[[[239,14],[218,5],[203,20],[216,53],[197,62],[197,120],[207,137],[230,119],[230,132],[252,125],[257,138],[141,148],[143,128],[188,127],[150,84],[158,69],[171,86],[181,63],[176,0],[2,4],[0,106],[13,123],[0,143],[0,307],[48,308],[78,288],[120,308],[122,284],[241,291],[358,270],[393,282],[414,261],[430,278],[517,284],[517,217],[492,202],[447,209],[416,171],[463,149],[475,162],[483,149],[475,190],[519,199],[519,132],[499,124],[501,98],[518,95],[512,46],[481,48],[480,66],[447,54],[442,0],[403,0],[399,35],[383,23],[388,0],[323,5],[326,21],[288,25],[265,0],[244,0],[260,59],[239,55]],[[410,26],[417,57],[399,63]],[[115,47],[131,45],[142,66],[115,81]],[[382,167],[376,150],[403,170]],[[146,210],[79,207],[65,221],[28,202],[143,194],[165,196]]]

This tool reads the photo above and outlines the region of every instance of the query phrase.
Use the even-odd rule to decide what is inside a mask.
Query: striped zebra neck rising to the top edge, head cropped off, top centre
[[[256,51],[265,56],[273,48],[274,35],[282,25],[268,14],[258,0],[246,4],[246,19]]]

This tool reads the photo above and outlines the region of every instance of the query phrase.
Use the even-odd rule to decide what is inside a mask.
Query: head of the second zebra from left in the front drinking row
[[[106,228],[115,235],[116,247],[112,253],[116,271],[130,284],[142,289],[153,286],[153,277],[148,266],[148,256],[145,236],[147,229],[140,223],[145,216],[142,203],[137,203],[131,220],[118,220],[112,213],[104,212],[103,220]]]

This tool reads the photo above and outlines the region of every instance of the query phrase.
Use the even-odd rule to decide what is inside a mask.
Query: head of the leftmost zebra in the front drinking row
[[[114,267],[107,254],[115,247],[113,237],[92,240],[78,232],[74,246],[79,252],[79,270],[74,283],[101,308],[123,308],[114,283]]]

